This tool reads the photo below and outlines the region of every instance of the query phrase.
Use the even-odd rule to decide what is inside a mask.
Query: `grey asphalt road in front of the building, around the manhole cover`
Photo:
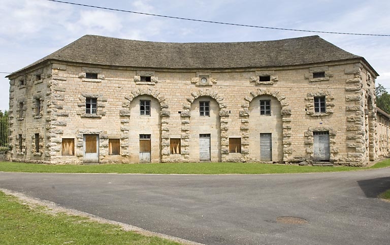
[[[0,188],[206,244],[390,244],[390,168],[310,174],[0,172]],[[306,224],[283,224],[298,217]]]

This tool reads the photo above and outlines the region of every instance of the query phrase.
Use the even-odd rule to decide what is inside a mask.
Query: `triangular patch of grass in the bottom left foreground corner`
[[[174,241],[124,231],[119,226],[92,222],[64,213],[49,214],[0,192],[0,244],[163,244]]]

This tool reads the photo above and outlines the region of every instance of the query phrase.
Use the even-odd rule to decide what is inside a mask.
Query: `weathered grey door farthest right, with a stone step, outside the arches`
[[[313,149],[313,161],[329,161],[330,147],[329,147],[329,132],[313,132],[314,149]]]

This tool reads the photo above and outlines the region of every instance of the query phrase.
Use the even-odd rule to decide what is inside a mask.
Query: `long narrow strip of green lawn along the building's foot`
[[[266,174],[340,172],[390,166],[385,160],[369,168],[316,167],[262,163],[153,163],[100,165],[46,165],[0,162],[0,171],[38,173],[146,173],[146,174]]]

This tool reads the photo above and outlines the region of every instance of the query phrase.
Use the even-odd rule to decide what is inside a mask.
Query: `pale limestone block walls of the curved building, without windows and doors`
[[[200,134],[211,135],[213,162],[260,162],[260,133],[272,133],[272,161],[280,163],[311,163],[314,132],[322,131],[329,133],[334,164],[365,165],[385,150],[377,147],[383,141],[374,77],[359,62],[231,70],[55,63],[40,69],[28,71],[40,80],[24,87],[20,77],[10,81],[15,161],[81,164],[84,134],[99,135],[99,163],[138,163],[141,134],[151,135],[151,162],[199,162]],[[314,78],[318,72],[324,77]],[[326,111],[315,112],[316,97],[325,98]],[[86,113],[87,98],[96,99],[95,114]],[[259,115],[260,99],[271,101],[271,116]],[[140,100],[151,101],[150,116],[140,115]],[[200,101],[210,101],[210,116],[199,115]],[[35,134],[42,137],[39,152],[31,152]],[[241,152],[229,152],[229,138],[241,138]],[[74,155],[63,154],[62,139],[74,139]],[[110,139],[120,140],[119,155],[109,154]],[[171,154],[171,139],[180,139],[180,154]]]

